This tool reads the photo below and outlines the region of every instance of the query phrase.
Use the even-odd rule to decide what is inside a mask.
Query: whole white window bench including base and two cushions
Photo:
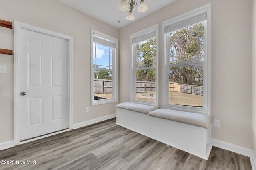
[[[206,160],[212,149],[206,115],[126,102],[116,106],[116,124]]]

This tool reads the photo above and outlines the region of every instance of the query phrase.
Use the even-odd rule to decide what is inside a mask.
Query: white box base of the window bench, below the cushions
[[[121,108],[116,124],[205,160],[212,149],[211,125],[206,129]]]

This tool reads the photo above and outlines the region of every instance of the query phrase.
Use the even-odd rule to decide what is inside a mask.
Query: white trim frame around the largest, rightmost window
[[[204,72],[204,108],[168,104],[169,93],[167,92],[167,88],[169,86],[169,81],[167,80],[169,80],[169,74],[167,73],[169,69],[169,62],[167,58],[168,39],[166,38],[165,27],[180,22],[182,20],[186,20],[193,16],[197,16],[204,12],[206,12],[207,15],[207,23],[206,26],[204,27],[206,37],[206,59],[204,61],[206,64],[206,72]],[[186,12],[185,14],[162,22],[162,55],[164,55],[164,57],[162,58],[162,108],[211,115],[211,4],[206,4],[190,12]]]

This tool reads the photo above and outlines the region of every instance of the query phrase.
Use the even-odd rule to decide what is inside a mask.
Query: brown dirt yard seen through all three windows
[[[112,98],[112,93],[95,93],[99,98]],[[203,107],[203,96],[181,92],[170,92],[170,104]],[[136,100],[155,102],[155,92],[142,92],[136,94]]]

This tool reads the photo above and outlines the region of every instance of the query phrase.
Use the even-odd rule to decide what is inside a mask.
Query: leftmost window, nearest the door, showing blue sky
[[[92,30],[92,105],[117,102],[117,42]]]

